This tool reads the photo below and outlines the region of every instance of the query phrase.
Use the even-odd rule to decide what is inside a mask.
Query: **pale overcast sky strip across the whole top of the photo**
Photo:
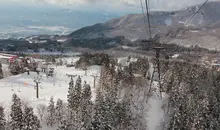
[[[140,0],[0,0],[0,3],[20,3],[34,6],[55,5],[80,10],[106,10],[106,11],[140,11]],[[143,2],[145,0],[142,0]],[[191,5],[200,4],[205,0],[150,0],[152,10],[176,10]]]

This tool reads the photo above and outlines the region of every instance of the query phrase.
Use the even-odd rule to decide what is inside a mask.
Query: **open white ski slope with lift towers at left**
[[[76,59],[69,59],[70,61],[76,62]],[[54,76],[46,77],[45,73],[40,73],[41,83],[39,84],[39,99],[36,98],[36,89],[34,79],[38,77],[36,72],[31,72],[30,75],[27,73],[10,76],[0,80],[0,104],[5,108],[9,108],[11,98],[16,93],[23,102],[29,103],[35,107],[39,104],[48,104],[50,97],[53,96],[55,101],[59,98],[61,100],[67,100],[68,87],[70,77],[67,74],[73,74],[81,76],[82,83],[86,81],[91,85],[92,94],[95,97],[94,78],[91,75],[100,75],[99,66],[90,66],[87,70],[87,76],[85,71],[75,69],[74,67],[67,68],[66,66],[54,66]],[[77,77],[74,78],[74,82]],[[98,84],[98,80],[97,80]]]

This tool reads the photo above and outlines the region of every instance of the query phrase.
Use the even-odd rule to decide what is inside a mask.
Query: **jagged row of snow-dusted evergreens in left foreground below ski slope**
[[[56,130],[111,130],[131,129],[132,116],[129,99],[117,98],[115,87],[98,89],[95,101],[91,100],[91,87],[81,78],[69,83],[67,103],[58,99],[56,104],[51,97],[49,105],[36,107],[22,105],[21,99],[14,94],[10,118],[6,120],[4,109],[0,107],[1,130],[39,130],[47,126]]]

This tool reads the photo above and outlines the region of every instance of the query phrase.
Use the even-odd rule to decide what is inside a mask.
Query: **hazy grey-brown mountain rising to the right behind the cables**
[[[220,2],[207,3],[195,17],[185,25],[201,5],[172,12],[151,12],[153,35],[161,36],[165,43],[200,45],[220,48]],[[148,31],[147,31],[148,32]],[[70,34],[74,38],[97,38],[125,36],[131,41],[149,38],[143,14],[129,14],[105,23],[85,27]]]

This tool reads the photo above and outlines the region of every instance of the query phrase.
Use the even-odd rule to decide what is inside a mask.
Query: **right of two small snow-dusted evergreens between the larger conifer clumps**
[[[57,120],[57,122],[62,120],[63,115],[64,115],[63,101],[58,99],[57,104],[56,104],[56,120]]]

